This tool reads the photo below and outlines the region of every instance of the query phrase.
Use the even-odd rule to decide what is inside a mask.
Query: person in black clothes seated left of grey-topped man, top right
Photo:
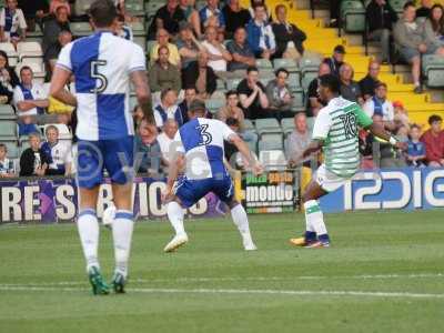
[[[382,62],[390,59],[390,34],[392,24],[397,21],[397,13],[386,0],[372,0],[365,9],[365,20],[369,26],[370,40],[380,42]]]

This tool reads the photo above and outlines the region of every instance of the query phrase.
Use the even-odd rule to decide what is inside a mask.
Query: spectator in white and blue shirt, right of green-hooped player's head
[[[387,101],[387,85],[385,83],[376,83],[375,95],[365,102],[363,109],[370,118],[373,114],[381,115],[386,130],[392,132],[396,130],[393,104],[391,101]]]

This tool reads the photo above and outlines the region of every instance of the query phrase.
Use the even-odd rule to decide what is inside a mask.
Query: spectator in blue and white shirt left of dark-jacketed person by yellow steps
[[[256,58],[271,59],[276,51],[276,42],[271,24],[266,21],[263,4],[254,8],[254,17],[246,26],[246,39]]]

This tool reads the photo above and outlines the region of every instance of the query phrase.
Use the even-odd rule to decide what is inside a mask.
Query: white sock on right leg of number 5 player
[[[133,213],[118,210],[112,223],[112,238],[114,240],[115,272],[124,278],[128,274],[128,260],[131,252],[132,231],[134,228]]]

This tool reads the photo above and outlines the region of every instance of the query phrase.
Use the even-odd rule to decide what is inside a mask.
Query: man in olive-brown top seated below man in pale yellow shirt
[[[162,46],[158,50],[158,60],[151,65],[149,71],[150,89],[160,95],[165,89],[180,91],[182,89],[181,75],[178,67],[169,61],[170,51]],[[154,97],[153,97],[154,99]],[[159,97],[157,97],[159,100]]]

